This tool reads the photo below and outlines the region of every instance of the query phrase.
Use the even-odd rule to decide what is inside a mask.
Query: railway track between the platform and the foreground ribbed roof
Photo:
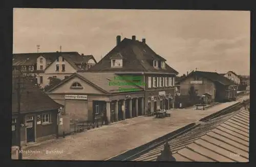
[[[244,96],[244,94],[243,94],[243,96]],[[241,107],[243,107],[243,103],[238,102],[238,103],[233,104],[231,106],[228,106],[228,107],[226,107],[226,108],[224,108],[224,109],[222,109],[222,110],[220,110],[220,111],[218,111],[214,114],[211,114],[209,116],[206,116],[206,117],[202,118],[201,120],[199,120],[198,123],[191,123],[191,124],[189,124],[187,126],[184,126],[180,129],[174,131],[174,132],[170,132],[170,133],[168,133],[164,136],[161,136],[161,137],[159,137],[159,138],[157,138],[153,141],[150,141],[150,142],[148,142],[148,143],[146,143],[142,146],[139,146],[135,149],[132,149],[132,150],[129,150],[129,151],[124,152],[122,154],[119,154],[115,157],[108,158],[106,160],[108,160],[108,161],[130,161],[134,157],[136,157],[138,155],[142,155],[144,152],[146,152],[146,151],[148,151],[148,150],[150,150],[154,147],[157,147],[159,145],[164,144],[164,142],[166,140],[171,140],[173,138],[176,138],[176,137],[178,137],[178,136],[180,136],[180,135],[198,127],[201,122],[207,122],[207,121],[209,121],[213,118],[222,116],[222,115],[227,114],[227,113],[231,113],[231,112],[236,111],[236,110],[239,110]]]

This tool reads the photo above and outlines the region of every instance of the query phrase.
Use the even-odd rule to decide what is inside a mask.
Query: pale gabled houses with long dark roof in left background
[[[49,77],[62,80],[96,63],[92,55],[80,55],[77,52],[22,53],[13,54],[12,68],[35,75],[38,84],[45,87]]]

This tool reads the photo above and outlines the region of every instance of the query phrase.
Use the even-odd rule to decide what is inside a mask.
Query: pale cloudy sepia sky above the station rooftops
[[[146,43],[180,75],[250,71],[250,12],[193,10],[13,9],[13,53],[78,52],[97,61],[116,36]]]

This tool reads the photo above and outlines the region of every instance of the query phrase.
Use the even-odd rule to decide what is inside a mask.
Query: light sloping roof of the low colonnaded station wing
[[[72,76],[62,80],[58,85],[54,86],[48,92],[53,91],[57,87],[61,86],[62,84],[66,83],[67,81],[71,80],[74,77],[78,77],[82,79],[83,81],[89,83],[90,85],[94,86],[95,88],[101,90],[102,92],[106,94],[111,94],[111,93],[118,93],[119,91],[119,86],[118,85],[109,85],[109,82],[114,80],[114,77],[118,77],[114,73],[75,73]],[[114,81],[117,82],[117,81]],[[122,81],[120,81],[122,82]],[[122,88],[126,89],[137,89],[136,91],[143,91],[143,88],[137,85],[126,85],[126,86],[121,86]],[[128,90],[127,90],[128,91]],[[129,91],[128,91],[129,92]]]

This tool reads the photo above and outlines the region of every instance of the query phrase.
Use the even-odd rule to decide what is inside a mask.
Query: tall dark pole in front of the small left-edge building
[[[17,83],[17,103],[18,103],[18,118],[17,118],[17,144],[18,144],[18,159],[22,159],[22,147],[20,146],[20,121],[21,121],[21,117],[20,117],[20,75],[18,74],[18,83]]]

